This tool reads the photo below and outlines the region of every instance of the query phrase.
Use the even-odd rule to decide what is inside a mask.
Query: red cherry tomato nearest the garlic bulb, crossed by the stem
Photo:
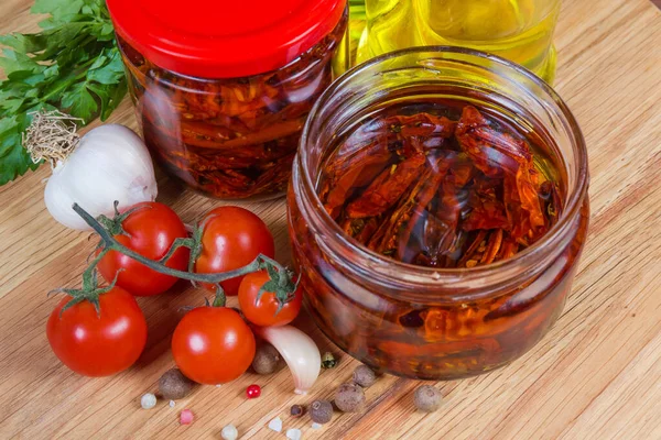
[[[115,235],[117,241],[130,250],[150,260],[160,260],[165,256],[174,240],[187,237],[184,222],[170,207],[156,201],[147,201],[130,209],[136,207],[142,209],[136,210],[122,222],[126,234]],[[188,249],[180,248],[167,261],[166,266],[186,271],[188,255]],[[123,270],[119,273],[116,285],[137,296],[162,294],[177,280],[174,276],[155,272],[116,251],[108,252],[97,267],[108,283],[115,279],[117,271]]]

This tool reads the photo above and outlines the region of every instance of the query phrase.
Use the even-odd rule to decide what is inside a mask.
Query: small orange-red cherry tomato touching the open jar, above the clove
[[[246,319],[260,327],[284,326],[299,316],[303,295],[296,289],[294,298],[278,311],[275,294],[264,292],[257,300],[261,287],[269,280],[267,271],[253,272],[243,277],[239,286],[239,306]],[[275,314],[278,311],[278,314]]]

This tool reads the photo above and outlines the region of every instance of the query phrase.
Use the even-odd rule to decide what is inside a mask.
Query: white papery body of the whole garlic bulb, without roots
[[[158,195],[154,166],[147,146],[132,130],[106,124],[90,130],[46,184],[51,216],[67,228],[91,230],[72,209],[74,202],[93,217],[112,217],[113,202],[128,208]]]

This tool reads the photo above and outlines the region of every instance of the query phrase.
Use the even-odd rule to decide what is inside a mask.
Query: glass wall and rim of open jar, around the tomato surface
[[[548,147],[543,157],[553,162],[562,209],[548,208],[545,215],[560,215],[534,242],[516,244],[519,251],[513,256],[484,265],[455,261],[451,267],[398,261],[349,237],[319,197],[326,161],[340,140],[360,130],[369,132],[380,112],[421,109],[425,102],[475,106]],[[401,135],[426,124],[388,127],[377,121],[376,125]],[[425,145],[465,157],[453,153],[456,144],[444,142]],[[389,144],[389,153],[400,146]],[[425,154],[429,161],[435,153]],[[390,174],[399,173],[395,168],[403,164]],[[361,169],[351,178],[370,173]],[[433,180],[433,175],[419,177],[427,178]],[[560,97],[530,72],[496,56],[444,46],[372,59],[319,98],[294,163],[289,222],[306,307],[340,349],[382,372],[448,380],[506,365],[530,350],[562,312],[586,238],[587,188],[581,130]]]

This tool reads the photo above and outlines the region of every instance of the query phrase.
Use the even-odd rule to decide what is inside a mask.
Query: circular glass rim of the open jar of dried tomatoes
[[[343,246],[347,248],[353,252],[353,260],[355,258],[371,261],[388,265],[390,268],[397,270],[397,273],[400,274],[400,276],[412,275],[413,277],[431,277],[437,282],[442,282],[444,278],[457,279],[457,277],[460,277],[462,280],[466,280],[467,278],[478,279],[490,275],[494,272],[509,272],[509,270],[514,270],[517,266],[527,265],[539,261],[541,254],[544,253],[544,250],[548,249],[550,244],[559,242],[560,240],[562,240],[563,237],[567,234],[567,231],[571,230],[572,222],[574,221],[574,219],[576,219],[582,209],[589,185],[587,148],[585,145],[585,140],[578,127],[578,122],[572,114],[571,110],[550,85],[544,82],[541,78],[539,78],[532,72],[525,69],[522,66],[502,57],[499,57],[497,55],[491,55],[481,51],[456,46],[410,47],[375,57],[364,64],[351,68],[342,77],[339,77],[329,88],[327,88],[324,91],[324,94],[319,97],[312,111],[310,112],[301,136],[299,158],[297,162],[294,164],[294,166],[300,166],[303,178],[303,186],[305,191],[310,195],[310,197],[312,197],[311,201],[313,202],[313,205],[323,208],[323,202],[318,197],[318,193],[316,191],[316,176],[312,176],[310,167],[304,166],[303,164],[306,164],[308,161],[308,152],[306,151],[305,145],[308,142],[315,118],[323,110],[324,103],[338,90],[342,90],[342,87],[345,84],[347,84],[347,81],[350,81],[351,78],[356,77],[357,75],[360,75],[362,72],[369,69],[370,67],[392,58],[416,53],[430,53],[436,55],[441,53],[449,53],[467,56],[468,58],[473,57],[474,59],[488,59],[494,65],[501,66],[501,68],[512,70],[517,75],[523,76],[527,80],[530,80],[537,87],[540,87],[543,90],[543,92],[546,94],[553,100],[553,103],[557,107],[557,110],[562,114],[562,118],[564,118],[564,122],[568,125],[568,129],[573,136],[573,160],[577,164],[576,179],[574,185],[572,185],[571,188],[567,188],[567,202],[565,204],[565,209],[561,213],[559,221],[540,240],[538,240],[535,243],[533,243],[525,250],[518,252],[511,258],[475,267],[437,268],[400,262],[367,249],[366,246],[361,245],[360,243],[348,237],[342,230],[339,224],[337,224],[337,222],[326,212],[325,209],[316,210],[316,216],[318,220],[321,220],[323,227],[326,229],[327,232],[332,232]],[[484,69],[485,72],[489,72],[486,67],[479,68]]]

